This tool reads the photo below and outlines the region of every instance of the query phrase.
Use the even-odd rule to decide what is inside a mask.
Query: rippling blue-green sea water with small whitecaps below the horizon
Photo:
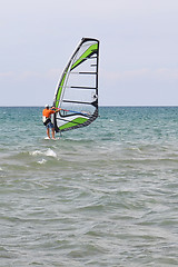
[[[178,108],[101,107],[46,140],[0,108],[0,266],[178,266]]]

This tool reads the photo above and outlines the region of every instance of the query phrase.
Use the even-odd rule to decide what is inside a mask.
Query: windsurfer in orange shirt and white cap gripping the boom
[[[50,139],[50,129],[52,131],[52,139],[55,139],[55,126],[51,122],[51,115],[58,112],[60,109],[56,109],[52,107],[51,109],[49,108],[49,105],[46,105],[46,108],[42,111],[42,120],[43,125],[47,128],[47,136]]]

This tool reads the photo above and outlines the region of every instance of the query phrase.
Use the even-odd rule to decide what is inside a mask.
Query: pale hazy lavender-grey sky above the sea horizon
[[[0,0],[0,106],[44,106],[82,37],[100,106],[178,106],[178,0]]]

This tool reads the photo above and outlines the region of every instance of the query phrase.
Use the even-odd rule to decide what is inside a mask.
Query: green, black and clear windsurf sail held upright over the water
[[[53,106],[56,131],[90,125],[98,117],[99,40],[82,38],[58,82]]]

